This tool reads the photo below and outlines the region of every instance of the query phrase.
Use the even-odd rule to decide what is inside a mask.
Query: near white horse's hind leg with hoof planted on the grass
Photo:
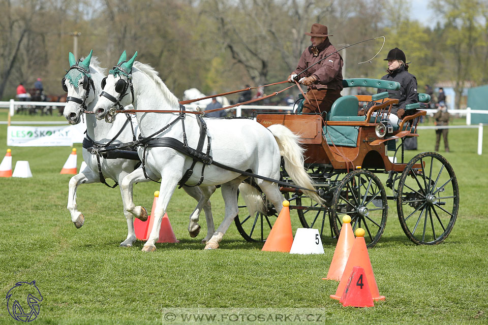
[[[217,231],[205,245],[204,249],[219,248],[219,243],[222,241],[225,232],[229,229],[229,226],[237,213],[239,213],[237,205],[237,188],[239,187],[241,180],[241,178],[236,178],[230,182],[222,184],[222,197],[224,198],[225,203],[224,221],[222,221]]]

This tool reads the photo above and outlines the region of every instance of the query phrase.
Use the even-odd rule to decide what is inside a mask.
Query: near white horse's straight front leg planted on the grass
[[[154,216],[151,216],[151,218],[154,218],[153,229],[151,230],[149,238],[144,244],[144,247],[142,247],[142,251],[144,252],[153,252],[156,250],[156,242],[159,239],[161,221],[163,220],[163,216],[166,212],[166,208],[168,207],[169,200],[171,199],[171,196],[173,195],[173,192],[176,189],[176,185],[179,181],[177,175],[172,174],[171,171],[168,172],[169,173],[161,173],[161,175],[164,176],[161,180],[161,187],[159,190],[158,201],[156,202],[156,208],[154,210]]]

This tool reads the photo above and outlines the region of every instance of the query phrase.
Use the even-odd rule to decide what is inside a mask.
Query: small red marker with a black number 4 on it
[[[358,266],[352,268],[352,273],[347,280],[344,295],[340,303],[352,307],[374,307],[373,297],[371,297],[370,286],[364,269]]]

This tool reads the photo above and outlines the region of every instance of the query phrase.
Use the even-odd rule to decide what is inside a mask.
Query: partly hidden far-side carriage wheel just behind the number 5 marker
[[[320,237],[325,239],[330,234],[330,237],[335,238],[339,235],[335,232],[329,223],[329,208],[318,204],[306,195],[296,197],[296,206],[293,207],[298,213],[298,219],[304,228],[315,228],[319,230]]]

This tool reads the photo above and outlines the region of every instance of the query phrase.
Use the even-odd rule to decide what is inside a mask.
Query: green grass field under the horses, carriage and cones
[[[14,116],[27,119],[54,117]],[[0,120],[6,120],[5,111]],[[440,152],[452,164],[461,193],[457,221],[444,243],[414,245],[391,204],[386,230],[369,250],[380,294],[386,296],[373,308],[345,308],[329,298],[338,283],[321,278],[334,252],[332,241],[324,241],[324,255],[261,252],[262,244],[244,241],[232,224],[220,249],[203,251],[204,217],[200,235],[190,238],[188,216],[196,202],[182,190],[176,190],[168,208],[180,242],[157,244],[154,253],[141,252],[140,241],[133,248],[119,247],[127,226],[118,188],[81,185],[77,203],[85,223],[75,229],[66,209],[70,176],[59,174],[71,148],[12,147],[14,165],[28,160],[34,177],[0,178],[0,294],[5,297],[18,281],[35,280],[43,296],[33,322],[38,324],[158,324],[163,310],[177,307],[203,312],[314,308],[327,324],[488,323],[488,130],[482,156],[476,154],[477,132],[450,131],[451,152]],[[0,125],[0,154],[7,149],[6,133],[7,126]],[[434,131],[420,134],[419,150],[407,152],[409,157],[434,149]],[[81,152],[81,145],[75,147]],[[81,160],[80,154],[78,166]],[[137,184],[135,203],[150,209],[158,189],[156,183]],[[220,192],[212,197],[212,209],[218,225]],[[292,222],[295,231],[294,215]],[[4,298],[0,323],[18,323]]]

